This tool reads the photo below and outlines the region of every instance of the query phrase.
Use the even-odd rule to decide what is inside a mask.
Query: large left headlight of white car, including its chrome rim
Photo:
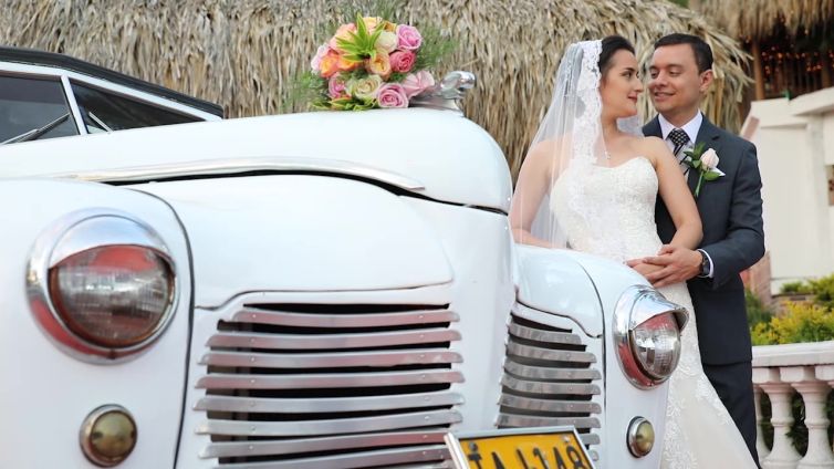
[[[62,350],[112,361],[147,347],[170,322],[175,265],[166,244],[126,213],[72,213],[35,242],[30,306]]]

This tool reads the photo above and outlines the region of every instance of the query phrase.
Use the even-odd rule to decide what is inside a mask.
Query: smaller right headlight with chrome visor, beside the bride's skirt
[[[671,376],[687,320],[682,306],[650,286],[636,285],[623,293],[614,311],[613,336],[621,368],[632,384],[645,389]]]

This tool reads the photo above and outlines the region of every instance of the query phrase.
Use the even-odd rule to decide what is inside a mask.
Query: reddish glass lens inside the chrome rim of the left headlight
[[[163,324],[174,274],[154,249],[104,246],[55,264],[49,286],[55,312],[70,331],[103,347],[126,348]]]

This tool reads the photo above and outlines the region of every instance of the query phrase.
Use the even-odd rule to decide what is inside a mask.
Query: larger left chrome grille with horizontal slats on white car
[[[461,421],[448,305],[246,304],[201,357],[195,409],[227,468],[444,468]]]

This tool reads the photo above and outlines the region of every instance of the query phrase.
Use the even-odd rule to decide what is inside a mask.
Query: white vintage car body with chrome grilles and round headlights
[[[514,244],[510,197],[452,110],[0,146],[0,467],[445,468],[450,431],[572,426],[656,468],[686,313]]]

